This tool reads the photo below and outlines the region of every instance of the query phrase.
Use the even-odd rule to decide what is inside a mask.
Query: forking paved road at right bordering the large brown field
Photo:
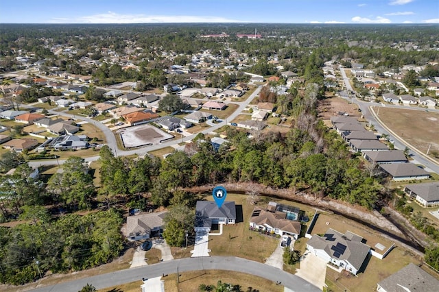
[[[416,145],[410,145],[403,139],[403,135],[397,134],[392,132],[388,127],[385,126],[384,123],[381,122],[379,119],[379,108],[382,106],[390,107],[390,108],[403,108],[403,109],[410,109],[410,110],[419,110],[419,111],[425,111],[425,108],[412,108],[407,106],[396,106],[396,105],[383,105],[379,104],[377,102],[369,102],[369,101],[363,101],[361,99],[357,99],[355,95],[355,90],[351,87],[351,84],[349,83],[348,77],[346,77],[346,73],[344,73],[344,70],[342,67],[340,67],[340,73],[342,74],[344,84],[348,90],[352,90],[354,92],[353,95],[351,95],[351,98],[344,99],[348,101],[353,101],[355,104],[358,104],[359,108],[361,108],[361,113],[364,115],[364,118],[370,121],[372,125],[375,126],[375,130],[382,134],[390,134],[390,139],[395,141],[394,145],[396,149],[404,150],[405,147],[410,148],[410,156],[412,159],[414,159],[414,162],[416,164],[423,165],[427,171],[439,173],[439,165],[436,161],[431,160],[428,156],[418,151],[416,148]],[[432,112],[439,112],[439,110],[429,110]]]

